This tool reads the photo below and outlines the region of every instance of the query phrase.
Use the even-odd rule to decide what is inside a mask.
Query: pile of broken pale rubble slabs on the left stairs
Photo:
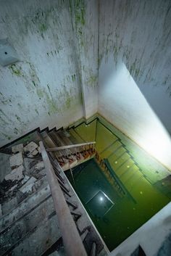
[[[17,144],[11,150],[11,172],[0,183],[0,218],[35,193],[46,176],[40,148],[34,141],[25,145]]]

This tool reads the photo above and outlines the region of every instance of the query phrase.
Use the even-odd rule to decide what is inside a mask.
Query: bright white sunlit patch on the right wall
[[[114,70],[114,71],[113,71]],[[101,78],[99,112],[171,169],[171,139],[123,62]],[[106,79],[107,78],[107,79]]]

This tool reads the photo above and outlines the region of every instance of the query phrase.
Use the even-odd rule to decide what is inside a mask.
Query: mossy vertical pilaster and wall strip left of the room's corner
[[[99,1],[70,1],[72,28],[78,52],[84,117],[91,117],[98,108],[98,38]]]

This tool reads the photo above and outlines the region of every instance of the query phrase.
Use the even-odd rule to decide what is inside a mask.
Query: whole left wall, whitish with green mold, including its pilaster
[[[20,62],[0,67],[0,146],[34,128],[60,128],[96,112],[94,10],[95,0],[1,1],[0,38],[8,38]]]

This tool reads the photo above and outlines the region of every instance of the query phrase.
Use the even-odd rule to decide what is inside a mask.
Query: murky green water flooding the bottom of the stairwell
[[[120,197],[109,183],[104,170],[93,159],[73,169],[74,181],[70,171],[66,173],[101,237],[112,251],[167,205],[170,198],[149,183],[120,138],[98,120],[89,125],[79,125],[72,129],[71,134],[75,139],[78,137],[79,142],[96,141],[99,155],[109,161],[112,171],[128,191],[128,194]]]

